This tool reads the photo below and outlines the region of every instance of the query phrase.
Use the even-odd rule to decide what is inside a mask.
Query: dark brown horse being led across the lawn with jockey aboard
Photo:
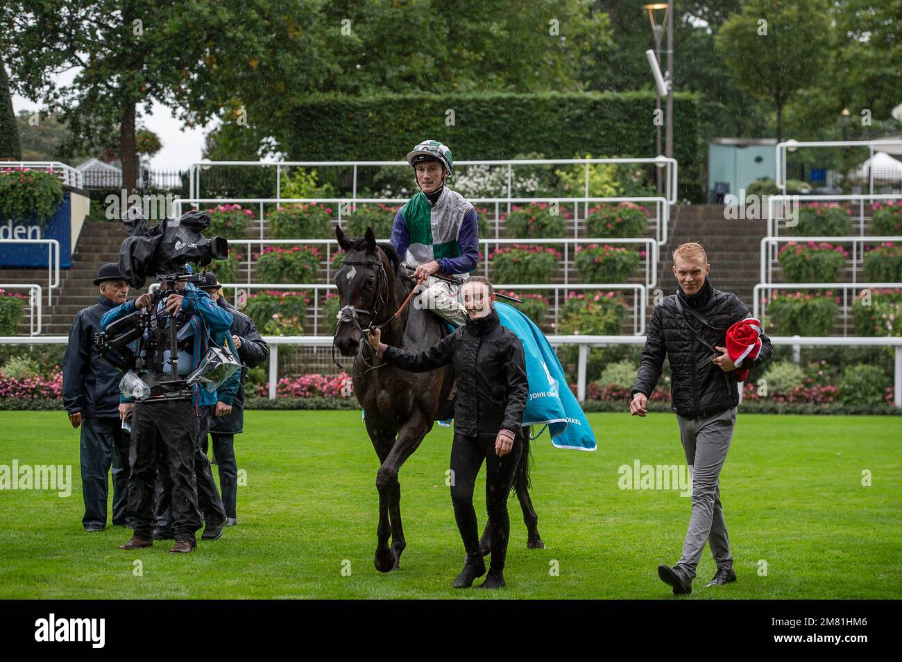
[[[354,357],[354,394],[364,408],[366,431],[379,456],[375,565],[380,572],[388,572],[399,567],[400,555],[407,546],[400,521],[398,472],[433,424],[449,414],[446,404],[454,368],[446,366],[413,373],[375,356],[364,334],[371,325],[382,329],[386,344],[422,350],[446,335],[446,324],[434,313],[413,304],[405,306],[400,316],[394,317],[413,284],[401,276],[400,258],[395,249],[389,244],[377,244],[372,229],[367,228],[362,239],[349,240],[341,228],[336,228],[336,238],[345,249],[345,259],[336,272],[342,307],[334,343],[342,356]],[[542,549],[545,543],[538,535],[538,516],[529,499],[529,429],[524,432],[527,448],[521,455],[514,488],[529,534],[527,547]],[[486,526],[480,540],[483,555],[489,553],[491,535]]]

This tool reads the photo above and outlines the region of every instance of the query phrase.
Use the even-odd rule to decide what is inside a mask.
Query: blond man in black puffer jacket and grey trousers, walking
[[[707,279],[711,265],[697,243],[683,244],[673,253],[679,283],[651,314],[642,350],[630,413],[645,416],[646,404],[661,376],[665,355],[670,361],[671,407],[679,422],[686,463],[692,475],[692,518],[675,567],[661,565],[658,576],[675,594],[692,593],[695,568],[704,543],[711,546],[717,572],[708,586],[735,581],[730,541],[720,500],[720,473],[732,441],[739,404],[737,368],[757,367],[773,352],[764,333],[754,360],[733,365],[725,348],[726,331],[750,317],[738,296],[721,292]]]

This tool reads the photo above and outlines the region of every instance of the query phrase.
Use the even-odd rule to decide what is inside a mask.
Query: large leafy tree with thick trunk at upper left
[[[118,126],[123,186],[133,190],[136,124],[152,100],[189,124],[227,111],[268,114],[267,97],[308,73],[303,0],[22,0],[7,38],[14,86],[59,112],[73,136]],[[76,70],[69,86],[54,77]],[[310,84],[319,81],[312,77]],[[272,104],[270,104],[272,106]]]

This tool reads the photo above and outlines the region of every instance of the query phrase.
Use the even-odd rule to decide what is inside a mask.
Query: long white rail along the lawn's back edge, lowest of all
[[[893,404],[902,407],[902,338],[871,338],[860,336],[855,338],[830,338],[820,336],[770,336],[774,345],[792,347],[894,347],[896,355],[893,370]],[[269,364],[269,398],[275,399],[276,385],[279,382],[279,346],[295,346],[328,349],[332,347],[332,336],[263,336],[270,348]],[[0,345],[36,345],[62,344],[69,342],[66,336],[42,336],[40,338],[0,337]],[[579,358],[576,363],[576,397],[585,401],[586,367],[589,348],[610,347],[612,345],[644,345],[645,336],[551,336],[548,342],[552,345],[576,345],[579,347]],[[739,385],[738,385],[739,387]]]

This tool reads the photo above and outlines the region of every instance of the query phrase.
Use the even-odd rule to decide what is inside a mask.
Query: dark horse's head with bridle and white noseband
[[[377,318],[385,313],[389,278],[394,274],[385,268],[386,255],[376,243],[372,228],[366,229],[363,239],[349,240],[336,227],[336,239],[345,250],[345,259],[336,271],[341,309],[335,345],[342,356],[353,357],[364,338],[364,329],[378,322]]]

